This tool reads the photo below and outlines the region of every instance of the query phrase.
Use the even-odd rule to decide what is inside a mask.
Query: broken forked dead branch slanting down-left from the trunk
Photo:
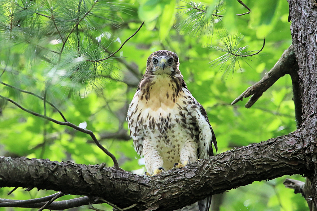
[[[275,83],[275,81],[285,74],[292,73],[295,80],[294,72],[297,72],[297,70],[298,64],[295,59],[294,47],[293,45],[290,45],[288,49],[284,51],[274,67],[272,67],[272,69],[260,81],[250,86],[239,97],[237,97],[231,105],[252,95],[249,101],[244,105],[244,107],[250,108],[262,96],[262,94]],[[300,113],[298,115],[300,115]]]

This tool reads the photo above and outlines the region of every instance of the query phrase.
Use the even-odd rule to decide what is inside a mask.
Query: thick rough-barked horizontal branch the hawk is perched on
[[[53,189],[103,197],[121,208],[137,203],[131,210],[168,211],[254,181],[312,176],[310,149],[309,140],[295,131],[152,177],[112,168],[99,170],[98,165],[1,157],[0,186]]]

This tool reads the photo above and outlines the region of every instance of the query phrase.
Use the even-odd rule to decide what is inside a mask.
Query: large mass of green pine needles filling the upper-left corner
[[[21,82],[40,73],[45,83],[68,91],[100,85],[101,74],[114,68],[110,59],[102,61],[108,56],[104,42],[111,42],[111,36],[101,38],[102,31],[119,27],[125,10],[109,0],[0,1],[0,56],[9,58],[0,58],[5,77]]]

